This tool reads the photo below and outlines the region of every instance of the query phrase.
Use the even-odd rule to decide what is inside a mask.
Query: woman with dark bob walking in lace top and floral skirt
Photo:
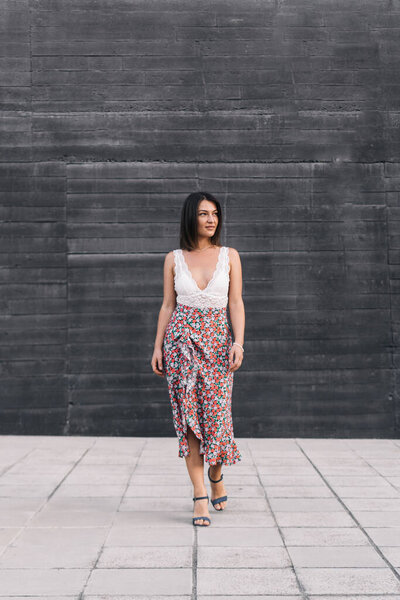
[[[204,459],[216,510],[227,501],[222,464],[241,460],[231,395],[244,352],[242,268],[238,252],[219,245],[221,226],[218,200],[207,192],[189,194],[181,214],[180,248],[164,261],[164,299],[151,360],[154,373],[168,381],[179,456],[185,457],[193,484],[193,525],[198,526],[211,523]]]

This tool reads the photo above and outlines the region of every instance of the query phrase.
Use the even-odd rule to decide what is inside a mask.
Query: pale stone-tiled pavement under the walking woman
[[[0,600],[400,599],[399,440],[236,440],[193,527],[176,438],[0,436]]]

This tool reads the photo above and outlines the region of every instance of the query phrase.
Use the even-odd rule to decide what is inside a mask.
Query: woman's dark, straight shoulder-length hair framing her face
[[[202,200],[214,202],[218,212],[218,225],[214,235],[211,238],[211,243],[214,246],[219,246],[219,238],[222,227],[222,210],[218,200],[209,192],[193,192],[189,194],[182,206],[181,212],[181,230],[179,243],[182,250],[193,250],[197,246],[197,209]]]

